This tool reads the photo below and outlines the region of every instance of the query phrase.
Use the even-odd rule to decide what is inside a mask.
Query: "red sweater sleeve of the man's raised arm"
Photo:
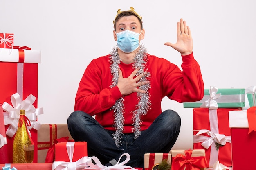
[[[204,82],[198,62],[193,57],[193,52],[182,56],[182,71],[176,66],[166,78],[164,87],[168,98],[177,102],[194,102],[204,96]]]

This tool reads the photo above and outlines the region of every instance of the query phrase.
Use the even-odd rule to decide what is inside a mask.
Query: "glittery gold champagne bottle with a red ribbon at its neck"
[[[32,142],[27,131],[26,121],[29,122],[28,118],[25,116],[25,110],[20,110],[18,129],[13,140],[13,163],[26,163],[24,145],[31,144]]]

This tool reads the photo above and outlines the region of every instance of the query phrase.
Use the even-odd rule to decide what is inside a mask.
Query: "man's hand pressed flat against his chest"
[[[143,74],[139,74],[134,78],[136,73],[139,71],[139,68],[135,69],[130,76],[127,78],[123,77],[122,71],[119,70],[119,78],[117,82],[117,87],[119,88],[121,94],[123,96],[127,94],[131,94],[132,92],[139,92],[139,93],[146,93],[146,91],[138,89],[137,87],[146,85],[149,83],[149,81],[139,82],[137,83],[143,76],[147,74],[147,72],[144,72]]]

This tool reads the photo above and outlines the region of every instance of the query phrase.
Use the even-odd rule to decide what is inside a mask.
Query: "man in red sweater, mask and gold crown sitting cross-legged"
[[[86,141],[88,156],[98,157],[107,166],[117,163],[123,153],[130,154],[127,165],[133,167],[144,167],[144,153],[168,153],[181,120],[173,110],[162,112],[162,98],[193,102],[204,95],[186,22],[177,23],[177,42],[165,43],[181,53],[181,71],[139,45],[145,36],[142,18],[130,9],[118,10],[113,31],[117,47],[88,65],[79,83],[75,111],[68,118],[74,140]]]

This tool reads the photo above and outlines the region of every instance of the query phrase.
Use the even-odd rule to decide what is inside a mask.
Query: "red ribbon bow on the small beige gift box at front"
[[[185,156],[182,154],[177,154],[172,162],[172,170],[200,170],[200,168],[207,167],[206,158],[201,157],[191,157],[193,150],[185,150]]]

